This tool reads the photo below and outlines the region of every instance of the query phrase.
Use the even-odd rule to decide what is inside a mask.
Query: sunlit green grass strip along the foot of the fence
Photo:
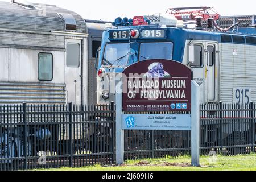
[[[164,159],[129,160],[122,166],[102,167],[100,165],[82,168],[57,168],[51,171],[256,171],[256,154],[217,156],[211,163],[209,156],[200,157],[201,167],[191,167],[190,156]]]

